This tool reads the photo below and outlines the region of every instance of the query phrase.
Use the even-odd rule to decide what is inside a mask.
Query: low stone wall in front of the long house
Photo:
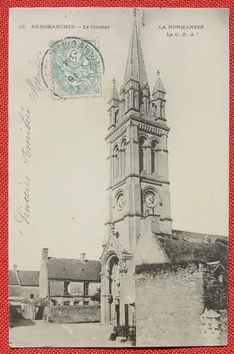
[[[100,304],[77,306],[52,306],[49,321],[59,324],[100,322]]]

